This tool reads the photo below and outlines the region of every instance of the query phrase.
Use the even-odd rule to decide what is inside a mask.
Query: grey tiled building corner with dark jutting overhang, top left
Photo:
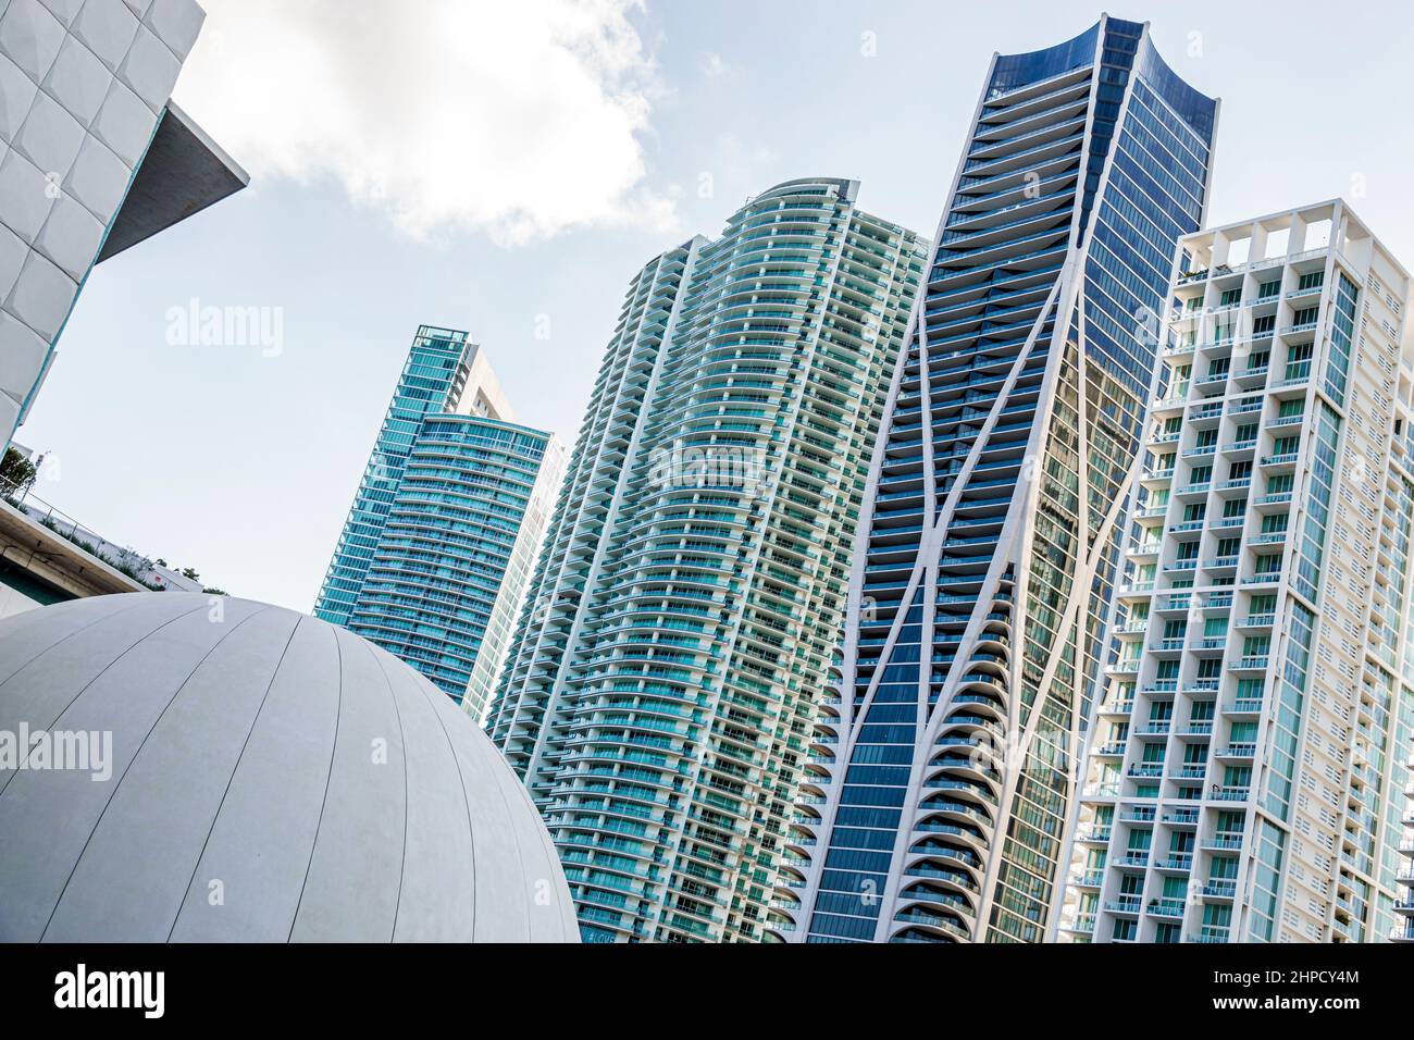
[[[0,0],[0,450],[95,263],[242,190],[171,103],[195,0]]]

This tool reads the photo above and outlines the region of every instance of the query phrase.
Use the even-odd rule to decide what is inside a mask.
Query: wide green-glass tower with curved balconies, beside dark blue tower
[[[492,712],[592,941],[761,935],[916,236],[812,178],[632,280]]]

